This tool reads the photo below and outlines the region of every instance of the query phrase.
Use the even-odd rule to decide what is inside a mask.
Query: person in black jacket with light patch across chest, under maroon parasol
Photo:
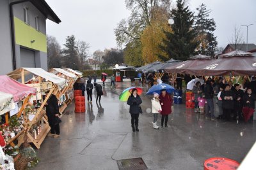
[[[224,121],[230,120],[230,115],[234,110],[234,92],[230,89],[230,85],[227,84],[225,90],[221,92]]]

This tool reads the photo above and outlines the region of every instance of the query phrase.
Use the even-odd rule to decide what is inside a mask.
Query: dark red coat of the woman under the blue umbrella
[[[159,99],[160,99],[160,104],[162,107],[161,115],[171,114],[172,113],[172,103],[173,103],[172,97],[166,93],[165,96],[163,96],[163,94],[160,94]]]

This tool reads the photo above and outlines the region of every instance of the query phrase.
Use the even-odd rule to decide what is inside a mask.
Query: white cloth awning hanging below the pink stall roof
[[[0,91],[0,115],[15,109],[13,95]]]

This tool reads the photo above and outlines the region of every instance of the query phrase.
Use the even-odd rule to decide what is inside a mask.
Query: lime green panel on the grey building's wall
[[[46,35],[14,17],[16,44],[26,46],[41,52],[47,52]],[[35,40],[33,43],[31,41]]]

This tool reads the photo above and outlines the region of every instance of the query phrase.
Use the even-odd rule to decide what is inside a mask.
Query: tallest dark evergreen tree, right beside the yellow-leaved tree
[[[169,59],[187,60],[189,55],[195,53],[198,42],[195,41],[196,32],[193,28],[193,13],[189,11],[188,6],[185,7],[184,1],[177,0],[177,7],[171,11],[174,20],[172,32],[164,31],[166,39],[160,48],[168,54]],[[159,54],[159,58],[166,60],[163,55]]]

